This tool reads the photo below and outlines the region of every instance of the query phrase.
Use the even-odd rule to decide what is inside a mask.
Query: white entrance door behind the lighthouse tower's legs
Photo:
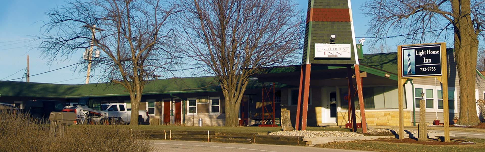
[[[322,122],[337,122],[337,91],[335,90],[335,88],[325,88],[322,91]]]

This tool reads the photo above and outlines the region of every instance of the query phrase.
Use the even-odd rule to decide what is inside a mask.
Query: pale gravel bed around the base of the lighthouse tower
[[[354,132],[342,131],[278,131],[272,132],[273,136],[303,136],[306,138],[314,137],[362,137],[364,135]]]

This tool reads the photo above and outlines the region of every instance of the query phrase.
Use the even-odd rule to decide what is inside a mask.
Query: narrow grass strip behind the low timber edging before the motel
[[[76,125],[72,125],[69,127],[76,127]],[[135,130],[143,130],[143,131],[215,131],[221,133],[268,133],[268,132],[276,132],[281,131],[280,127],[211,127],[211,126],[204,126],[204,127],[193,127],[193,126],[176,126],[176,125],[138,125],[138,126],[129,126],[129,125],[118,125],[118,127],[128,127],[133,128]],[[339,127],[307,127],[307,130],[314,130],[314,131],[350,131],[346,128],[339,128]]]

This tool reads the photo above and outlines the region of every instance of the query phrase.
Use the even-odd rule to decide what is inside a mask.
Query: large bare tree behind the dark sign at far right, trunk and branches
[[[475,67],[478,42],[484,38],[484,3],[484,0],[369,0],[363,4],[364,14],[373,17],[368,33],[376,37],[406,33],[404,41],[411,43],[446,41],[453,37],[460,83],[460,118],[456,123],[461,125],[479,123],[475,109]]]

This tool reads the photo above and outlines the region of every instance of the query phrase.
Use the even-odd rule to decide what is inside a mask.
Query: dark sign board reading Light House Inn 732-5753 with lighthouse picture
[[[401,47],[402,76],[441,76],[441,45]]]

